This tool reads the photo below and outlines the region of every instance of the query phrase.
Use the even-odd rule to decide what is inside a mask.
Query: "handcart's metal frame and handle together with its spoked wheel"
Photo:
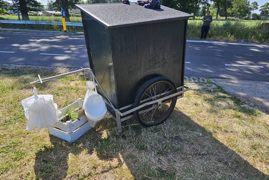
[[[174,82],[167,77],[155,77],[148,80],[140,87],[133,104],[116,109],[95,77],[93,70],[90,68],[82,68],[80,70],[44,79],[41,79],[38,74],[39,80],[31,82],[30,84],[43,83],[45,81],[85,71],[90,71],[91,79],[98,84],[104,94],[103,98],[105,103],[110,107],[110,110],[108,108],[108,112],[116,120],[119,132],[122,131],[121,122],[132,117],[144,127],[150,127],[164,122],[174,110],[177,99],[182,98],[184,92],[190,90],[187,86],[176,87]],[[95,88],[94,91],[97,92],[97,88]]]

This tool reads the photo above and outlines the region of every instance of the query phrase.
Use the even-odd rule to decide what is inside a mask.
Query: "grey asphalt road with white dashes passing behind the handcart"
[[[0,34],[0,63],[89,67],[84,37],[70,36]],[[269,82],[269,45],[188,41],[185,75]]]

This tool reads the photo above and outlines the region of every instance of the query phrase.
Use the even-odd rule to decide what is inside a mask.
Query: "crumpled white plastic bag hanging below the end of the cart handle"
[[[33,93],[33,96],[23,99],[21,102],[25,117],[28,119],[26,130],[33,130],[36,127],[40,130],[43,127],[51,126],[58,121],[58,116],[61,115],[57,104],[53,102],[52,95],[37,95],[36,87],[34,87]]]

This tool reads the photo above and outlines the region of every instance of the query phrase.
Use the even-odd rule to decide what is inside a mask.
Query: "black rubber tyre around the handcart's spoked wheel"
[[[140,88],[139,92],[137,93],[136,98],[134,100],[134,106],[133,106],[133,108],[136,108],[137,106],[139,106],[139,103],[141,101],[141,98],[142,98],[143,94],[147,91],[147,89],[151,85],[153,85],[153,84],[155,84],[157,82],[162,82],[162,81],[169,82],[172,85],[172,88],[173,88],[172,91],[173,91],[173,93],[176,93],[177,92],[176,86],[175,86],[174,82],[171,81],[171,79],[169,79],[167,77],[156,77],[156,78],[150,79],[149,81],[147,81]],[[163,123],[171,115],[172,111],[175,108],[176,100],[177,100],[177,96],[174,96],[174,97],[171,98],[171,105],[169,107],[169,110],[166,112],[165,116],[163,116],[162,119],[160,121],[158,121],[157,123],[153,123],[153,124],[146,124],[146,123],[144,123],[143,120],[141,120],[140,117],[139,117],[139,109],[136,110],[136,111],[134,111],[134,118],[136,119],[137,123],[139,123],[143,127],[151,127],[151,126],[155,126],[155,125],[161,124],[161,123]]]

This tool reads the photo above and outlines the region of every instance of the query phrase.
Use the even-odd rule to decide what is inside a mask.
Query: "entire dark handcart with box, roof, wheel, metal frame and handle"
[[[165,6],[146,9],[135,3],[79,4],[90,68],[41,79],[90,71],[94,89],[122,131],[134,117],[144,126],[164,122],[184,86],[188,18]]]

